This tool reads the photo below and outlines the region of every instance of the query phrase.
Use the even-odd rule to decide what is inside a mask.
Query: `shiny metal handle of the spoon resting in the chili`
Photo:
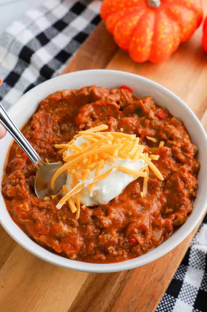
[[[35,166],[40,165],[42,163],[42,159],[37,154],[37,152],[33,149],[31,144],[27,141],[25,136],[21,133],[21,131],[15,126],[13,121],[7,115],[6,110],[0,103],[0,121],[4,125],[4,127],[8,130],[8,132],[12,135],[15,141],[21,146],[27,156],[31,159]]]

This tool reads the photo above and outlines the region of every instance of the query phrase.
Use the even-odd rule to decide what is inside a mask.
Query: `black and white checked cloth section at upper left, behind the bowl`
[[[100,22],[101,1],[48,0],[0,35],[0,100],[6,109],[57,76]]]

